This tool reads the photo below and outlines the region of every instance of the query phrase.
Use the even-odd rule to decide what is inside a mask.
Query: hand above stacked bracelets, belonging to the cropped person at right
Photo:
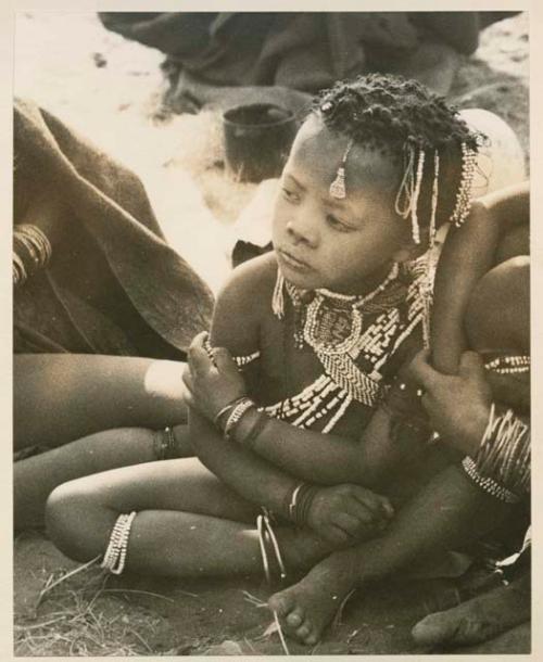
[[[481,357],[465,352],[457,375],[443,374],[420,352],[409,366],[411,375],[426,391],[422,405],[439,434],[463,453],[477,453],[489,421],[492,392]]]

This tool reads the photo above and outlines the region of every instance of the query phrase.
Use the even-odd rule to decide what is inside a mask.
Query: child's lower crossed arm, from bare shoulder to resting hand
[[[263,260],[258,263],[258,259],[238,269],[232,281],[217,298],[213,341],[233,346],[233,352],[238,355],[250,354],[258,347],[258,305],[263,301],[269,302],[272,296],[272,289],[266,293],[260,272],[260,266],[264,265],[265,268],[266,264]],[[194,393],[193,380],[198,382],[199,377],[207,375],[212,383],[212,399],[217,402],[214,385],[217,383],[218,371],[202,347],[203,338],[199,336],[199,340],[189,349],[193,374],[186,375],[186,383],[189,391]],[[218,365],[220,357],[216,356],[215,360]],[[232,378],[229,389],[222,392],[225,399],[219,400],[217,410],[245,392],[243,380],[233,362]],[[213,420],[213,416],[210,418]],[[192,447],[203,464],[249,501],[286,514],[293,491],[303,476],[294,479],[295,471],[285,471],[251,450],[226,442],[216,428],[194,408],[190,410],[189,425]],[[313,476],[308,479],[313,480]],[[344,544],[349,536],[367,532],[368,526],[379,526],[383,519],[390,517],[387,499],[357,485],[339,485],[319,492],[323,494],[314,499],[306,522],[333,544]],[[349,521],[345,521],[346,512]]]

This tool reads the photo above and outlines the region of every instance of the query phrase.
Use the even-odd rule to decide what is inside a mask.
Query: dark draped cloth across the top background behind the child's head
[[[166,55],[175,112],[278,103],[303,114],[313,94],[370,72],[446,94],[459,53],[517,12],[104,12],[103,25]]]

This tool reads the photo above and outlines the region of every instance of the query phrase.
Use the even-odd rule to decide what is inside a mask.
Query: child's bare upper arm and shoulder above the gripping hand
[[[212,343],[239,354],[254,352],[277,279],[275,253],[243,263],[230,275],[217,295],[212,323]]]

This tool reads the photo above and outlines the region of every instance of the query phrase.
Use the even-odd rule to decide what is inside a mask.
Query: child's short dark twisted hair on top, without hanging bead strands
[[[406,144],[441,151],[465,143],[477,151],[482,138],[443,97],[401,76],[369,74],[337,82],[317,97],[313,112],[355,143],[399,155]]]

